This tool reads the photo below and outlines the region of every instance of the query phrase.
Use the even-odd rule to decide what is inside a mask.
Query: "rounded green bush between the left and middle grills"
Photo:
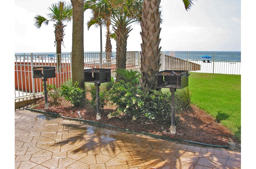
[[[74,86],[69,87],[68,85],[61,85],[61,96],[65,97],[66,100],[70,101],[74,107],[80,107],[84,105],[86,100],[86,90],[78,87],[78,82]]]

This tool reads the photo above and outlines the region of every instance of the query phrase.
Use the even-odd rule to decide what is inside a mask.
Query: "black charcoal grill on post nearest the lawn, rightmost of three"
[[[176,133],[175,127],[175,92],[176,89],[182,89],[188,86],[187,70],[163,70],[156,73],[157,88],[170,88],[172,101],[171,114],[171,134]]]

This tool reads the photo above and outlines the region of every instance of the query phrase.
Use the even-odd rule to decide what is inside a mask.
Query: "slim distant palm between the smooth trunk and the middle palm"
[[[88,30],[92,25],[95,25],[96,27],[105,25],[107,28],[106,32],[106,47],[105,52],[106,59],[111,59],[112,53],[112,44],[111,44],[111,31],[110,31],[110,25],[111,25],[111,16],[115,12],[112,8],[112,4],[109,0],[89,0],[84,2],[84,11],[87,9],[92,10],[92,17],[87,23]]]

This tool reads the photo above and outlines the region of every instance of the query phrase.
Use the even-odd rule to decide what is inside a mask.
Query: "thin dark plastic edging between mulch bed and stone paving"
[[[178,141],[178,142],[193,143],[193,144],[205,145],[205,146],[211,146],[211,147],[229,148],[228,146],[198,143],[198,142],[193,142],[193,141],[188,141],[188,140],[182,140],[182,139],[179,139],[179,138],[156,135],[156,134],[153,134],[153,133],[146,133],[146,132],[142,132],[142,131],[123,129],[123,128],[120,128],[120,127],[116,127],[116,126],[112,126],[112,125],[108,125],[108,124],[103,124],[103,123],[100,123],[100,122],[97,122],[97,121],[70,118],[70,117],[61,116],[57,113],[45,112],[45,111],[42,111],[42,110],[36,110],[36,109],[32,109],[32,108],[26,108],[26,110],[36,112],[36,113],[41,113],[41,114],[48,114],[48,115],[52,115],[52,116],[55,116],[55,117],[61,117],[61,118],[69,119],[69,120],[81,121],[81,122],[84,122],[84,123],[97,125],[97,126],[100,126],[100,127],[108,127],[108,128],[112,128],[112,129],[118,129],[118,130],[121,130],[121,131],[124,131],[124,132],[138,133],[138,134],[141,134],[141,135],[150,136],[150,137],[154,137],[154,138],[160,138],[160,139],[163,139],[163,140],[173,140],[173,141]]]

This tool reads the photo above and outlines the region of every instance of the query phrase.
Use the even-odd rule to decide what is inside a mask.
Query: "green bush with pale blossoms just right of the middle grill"
[[[140,116],[144,104],[143,94],[140,87],[120,80],[108,91],[108,99],[117,105],[116,111],[111,115],[124,113],[134,118]]]

